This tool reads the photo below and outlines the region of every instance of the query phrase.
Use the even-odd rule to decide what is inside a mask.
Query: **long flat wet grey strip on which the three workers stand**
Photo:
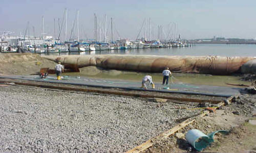
[[[141,89],[141,82],[127,81],[127,80],[113,80],[113,79],[93,79],[86,77],[70,77],[62,76],[62,80],[57,80],[55,76],[48,76],[46,79],[40,79],[38,75],[18,75],[18,76],[0,76],[0,78],[21,79],[38,82],[50,82],[60,84],[84,85],[94,87],[106,88],[121,88],[132,90]],[[154,80],[153,80],[154,82]],[[169,89],[163,89],[169,87]],[[163,86],[161,83],[155,82],[155,89],[151,85],[147,85],[148,91],[170,92],[170,93],[195,93],[203,95],[216,95],[216,96],[231,96],[240,94],[244,88],[237,87],[221,87],[221,86],[207,86],[207,85],[192,85],[184,83],[171,83],[168,86]]]

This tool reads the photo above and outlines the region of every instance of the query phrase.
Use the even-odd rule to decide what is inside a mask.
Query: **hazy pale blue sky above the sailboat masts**
[[[143,37],[142,27],[145,18],[151,19],[151,38],[157,37],[157,27],[162,26],[162,38],[174,37],[174,31],[184,39],[198,38],[256,38],[256,1],[255,0],[1,0],[0,32],[11,31],[13,35],[24,35],[29,22],[29,32],[35,36],[42,34],[42,16],[44,16],[45,35],[54,35],[58,30],[64,10],[67,8],[68,38],[71,35],[76,12],[79,10],[79,37],[94,38],[94,13],[101,22],[103,39],[104,15],[107,17],[107,35],[111,34],[111,20],[114,18],[115,39],[134,40]],[[176,30],[174,30],[174,23]],[[147,37],[149,24],[147,24]],[[27,33],[28,33],[27,31]],[[76,32],[76,24],[74,31]],[[63,38],[65,27],[60,37]],[[76,34],[75,34],[76,35]]]

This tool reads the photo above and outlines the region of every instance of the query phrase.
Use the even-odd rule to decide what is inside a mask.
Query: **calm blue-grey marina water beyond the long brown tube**
[[[72,52],[71,55],[79,53]],[[81,52],[88,54],[131,54],[131,55],[177,55],[177,56],[241,56],[256,57],[256,45],[254,44],[196,44],[192,47],[173,48],[144,48],[123,50],[102,50],[94,52]],[[69,55],[69,53],[50,53],[50,55]]]

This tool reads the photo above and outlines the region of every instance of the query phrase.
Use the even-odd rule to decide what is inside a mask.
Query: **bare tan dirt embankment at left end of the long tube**
[[[55,64],[38,54],[0,54],[0,75],[34,74],[42,67],[53,69]]]

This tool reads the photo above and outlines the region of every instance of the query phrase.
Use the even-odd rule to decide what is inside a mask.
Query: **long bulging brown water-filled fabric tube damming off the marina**
[[[98,66],[106,69],[162,72],[165,67],[169,67],[174,72],[219,75],[241,72],[243,64],[255,61],[254,57],[221,56],[69,55],[46,58],[79,68]]]

